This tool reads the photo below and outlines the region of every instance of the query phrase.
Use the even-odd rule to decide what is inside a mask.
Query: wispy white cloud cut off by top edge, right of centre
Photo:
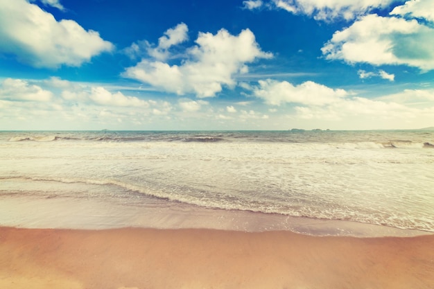
[[[385,8],[394,0],[273,0],[277,8],[317,20],[354,19],[375,8]]]

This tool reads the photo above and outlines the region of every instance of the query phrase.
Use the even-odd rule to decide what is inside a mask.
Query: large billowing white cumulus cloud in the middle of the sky
[[[123,76],[178,95],[196,94],[200,98],[215,96],[223,85],[234,87],[234,73],[246,71],[246,63],[258,58],[271,58],[264,53],[249,29],[231,35],[221,29],[213,35],[199,33],[196,46],[186,50],[180,65],[143,58]]]

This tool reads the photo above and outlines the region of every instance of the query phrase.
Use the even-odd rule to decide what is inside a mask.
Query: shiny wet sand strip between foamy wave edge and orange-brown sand
[[[198,207],[153,200],[138,206],[107,200],[40,198],[29,195],[0,197],[0,226],[27,229],[218,229],[262,232],[290,231],[308,236],[359,238],[412,237],[434,232],[399,229],[351,220],[327,220]]]

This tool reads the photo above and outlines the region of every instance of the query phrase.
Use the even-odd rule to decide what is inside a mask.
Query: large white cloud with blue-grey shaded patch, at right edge
[[[434,29],[395,17],[367,15],[337,31],[322,53],[328,60],[434,69]]]

